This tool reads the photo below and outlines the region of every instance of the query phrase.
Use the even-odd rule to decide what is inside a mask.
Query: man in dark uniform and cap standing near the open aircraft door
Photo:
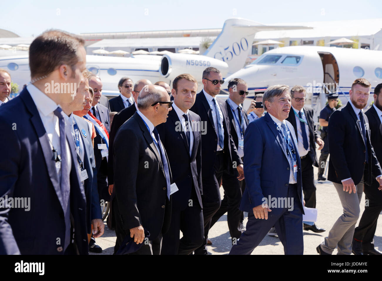
[[[318,180],[326,180],[324,177],[324,171],[326,160],[329,156],[329,141],[327,141],[329,118],[330,115],[332,115],[332,113],[335,111],[338,104],[338,94],[330,93],[327,94],[326,97],[328,98],[328,104],[321,110],[319,117],[320,126],[322,127],[321,136],[322,140],[324,141],[324,147],[321,150],[320,159],[318,161]]]

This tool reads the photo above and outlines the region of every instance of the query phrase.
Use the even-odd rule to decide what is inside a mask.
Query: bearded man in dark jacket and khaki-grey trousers
[[[337,247],[338,255],[350,255],[354,227],[359,217],[364,184],[371,185],[376,177],[382,189],[382,170],[370,142],[369,121],[363,114],[371,85],[364,78],[354,80],[349,91],[350,101],[330,116],[329,172],[343,207],[343,214],[334,223],[322,244],[320,255],[331,255]]]

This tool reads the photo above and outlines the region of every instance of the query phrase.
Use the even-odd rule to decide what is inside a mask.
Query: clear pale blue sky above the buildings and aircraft
[[[14,0],[1,4],[0,28],[28,37],[49,28],[73,33],[222,28],[231,17],[265,24],[381,18],[380,0],[341,2]]]

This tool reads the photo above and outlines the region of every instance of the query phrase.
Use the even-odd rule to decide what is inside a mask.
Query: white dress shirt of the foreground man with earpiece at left
[[[61,155],[61,148],[60,148],[60,127],[58,124],[58,117],[54,115],[53,111],[57,109],[57,104],[50,99],[47,95],[42,93],[36,86],[33,84],[28,84],[26,86],[29,94],[31,94],[31,97],[34,101],[34,104],[37,107],[37,110],[39,111],[39,115],[42,121],[42,124],[44,125],[45,132],[47,132],[50,148],[53,150],[56,149],[57,153]],[[65,122],[65,126],[67,126],[67,123]],[[65,138],[66,140],[66,138]],[[68,163],[61,163],[61,165],[66,164],[69,166],[69,171],[71,170],[71,153],[68,141],[66,142],[66,155],[68,159]],[[53,153],[52,153],[53,155]],[[58,181],[61,185],[61,167],[60,165],[56,165],[56,171],[58,175]]]

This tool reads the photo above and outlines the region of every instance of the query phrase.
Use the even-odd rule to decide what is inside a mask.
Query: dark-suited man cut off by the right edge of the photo
[[[382,161],[382,83],[374,89],[374,104],[365,112],[369,119],[370,141],[376,157]],[[382,192],[378,190],[379,183],[372,179],[371,185],[365,184],[366,204],[358,227],[354,229],[352,251],[355,254],[381,255],[382,252],[374,248],[374,234],[376,233],[377,220],[382,211]]]

